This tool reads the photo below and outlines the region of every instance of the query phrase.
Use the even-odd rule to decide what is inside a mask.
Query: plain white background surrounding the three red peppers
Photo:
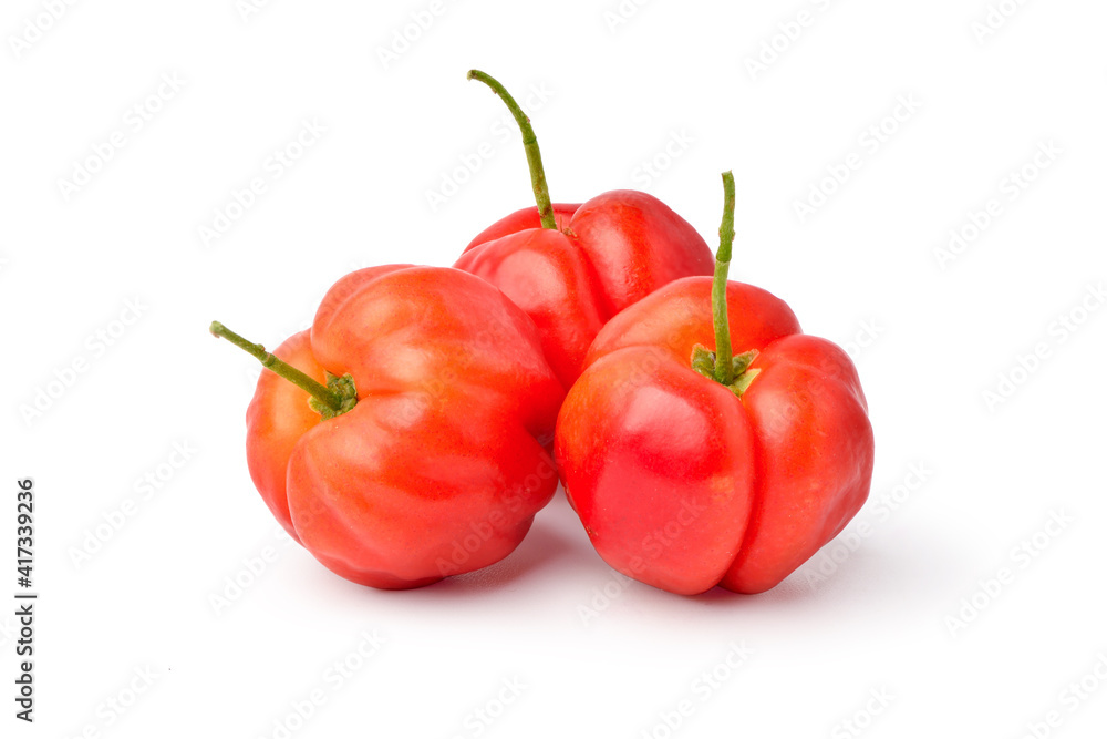
[[[41,595],[33,726],[0,609],[3,735],[1103,736],[1107,7],[992,1],[975,30],[984,0],[6,2],[0,594],[29,475]],[[648,189],[714,244],[733,168],[732,277],[853,353],[870,501],[774,591],[623,583],[560,492],[508,560],[414,592],[275,534],[258,370],[207,325],[276,346],[345,271],[447,266],[529,204],[474,66],[531,99],[556,201]]]

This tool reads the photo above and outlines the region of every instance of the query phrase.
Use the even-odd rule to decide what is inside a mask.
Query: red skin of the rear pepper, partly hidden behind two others
[[[612,191],[554,207],[558,229],[542,230],[537,208],[517,211],[473,239],[454,266],[488,280],[534,319],[569,388],[612,316],[674,279],[711,275],[715,263],[696,230],[646,193]]]

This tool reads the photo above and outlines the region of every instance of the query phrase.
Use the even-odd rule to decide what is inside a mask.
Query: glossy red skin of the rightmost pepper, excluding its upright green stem
[[[593,546],[643,583],[762,593],[860,510],[868,407],[849,357],[800,333],[770,294],[727,285],[735,353],[761,370],[741,397],[691,368],[714,350],[711,279],[661,288],[609,322],[558,418],[566,492]]]

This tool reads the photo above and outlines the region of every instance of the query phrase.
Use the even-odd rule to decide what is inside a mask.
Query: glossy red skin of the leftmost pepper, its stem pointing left
[[[560,383],[534,322],[472,275],[351,273],[273,353],[321,382],[349,372],[358,389],[351,411],[321,421],[304,391],[263,371],[247,411],[262,499],[348,579],[410,588],[498,562],[557,489]]]

